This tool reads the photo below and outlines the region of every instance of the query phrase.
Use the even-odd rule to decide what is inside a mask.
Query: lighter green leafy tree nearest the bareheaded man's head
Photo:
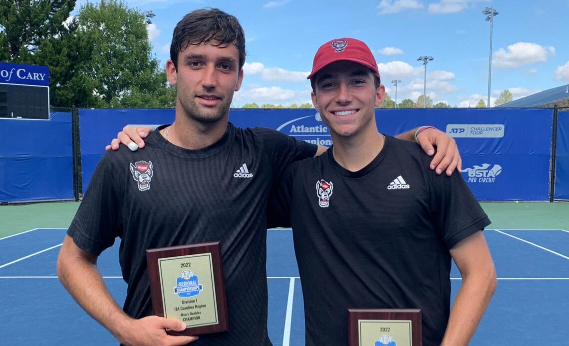
[[[86,77],[93,93],[105,105],[125,107],[146,102],[156,87],[164,87],[158,60],[151,56],[144,16],[117,0],[86,3],[77,15],[79,31],[88,37],[93,52]],[[168,90],[160,90],[168,94]],[[124,102],[122,99],[125,99]]]

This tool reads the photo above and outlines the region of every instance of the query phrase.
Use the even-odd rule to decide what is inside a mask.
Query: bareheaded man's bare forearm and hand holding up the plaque
[[[73,299],[123,344],[174,346],[185,345],[197,339],[193,336],[166,334],[166,328],[184,330],[182,322],[158,316],[137,320],[126,315],[105,286],[97,268],[97,256],[79,248],[68,235],[65,236],[57,258],[57,275]]]

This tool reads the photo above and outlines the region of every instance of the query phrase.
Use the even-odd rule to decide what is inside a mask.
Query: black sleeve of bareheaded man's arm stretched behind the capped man
[[[265,151],[273,168],[273,180],[280,177],[291,162],[316,155],[318,145],[295,139],[270,128],[255,127],[253,130],[265,145]]]

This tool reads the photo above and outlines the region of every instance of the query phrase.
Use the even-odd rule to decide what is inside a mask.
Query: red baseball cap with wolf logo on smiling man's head
[[[377,76],[380,75],[376,58],[373,57],[368,45],[360,40],[344,37],[342,39],[328,41],[318,48],[314,56],[314,61],[312,62],[312,72],[306,79],[310,80],[310,78],[314,77],[314,75],[325,66],[341,60],[357,62],[372,70]]]

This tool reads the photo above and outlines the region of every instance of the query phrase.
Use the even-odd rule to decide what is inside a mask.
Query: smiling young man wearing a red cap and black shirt
[[[308,78],[333,145],[288,166],[269,209],[290,218],[306,344],[347,344],[348,308],[361,308],[421,309],[424,346],[467,345],[496,287],[488,217],[460,172],[439,176],[418,145],[378,132],[385,88],[365,43],[325,43]]]

